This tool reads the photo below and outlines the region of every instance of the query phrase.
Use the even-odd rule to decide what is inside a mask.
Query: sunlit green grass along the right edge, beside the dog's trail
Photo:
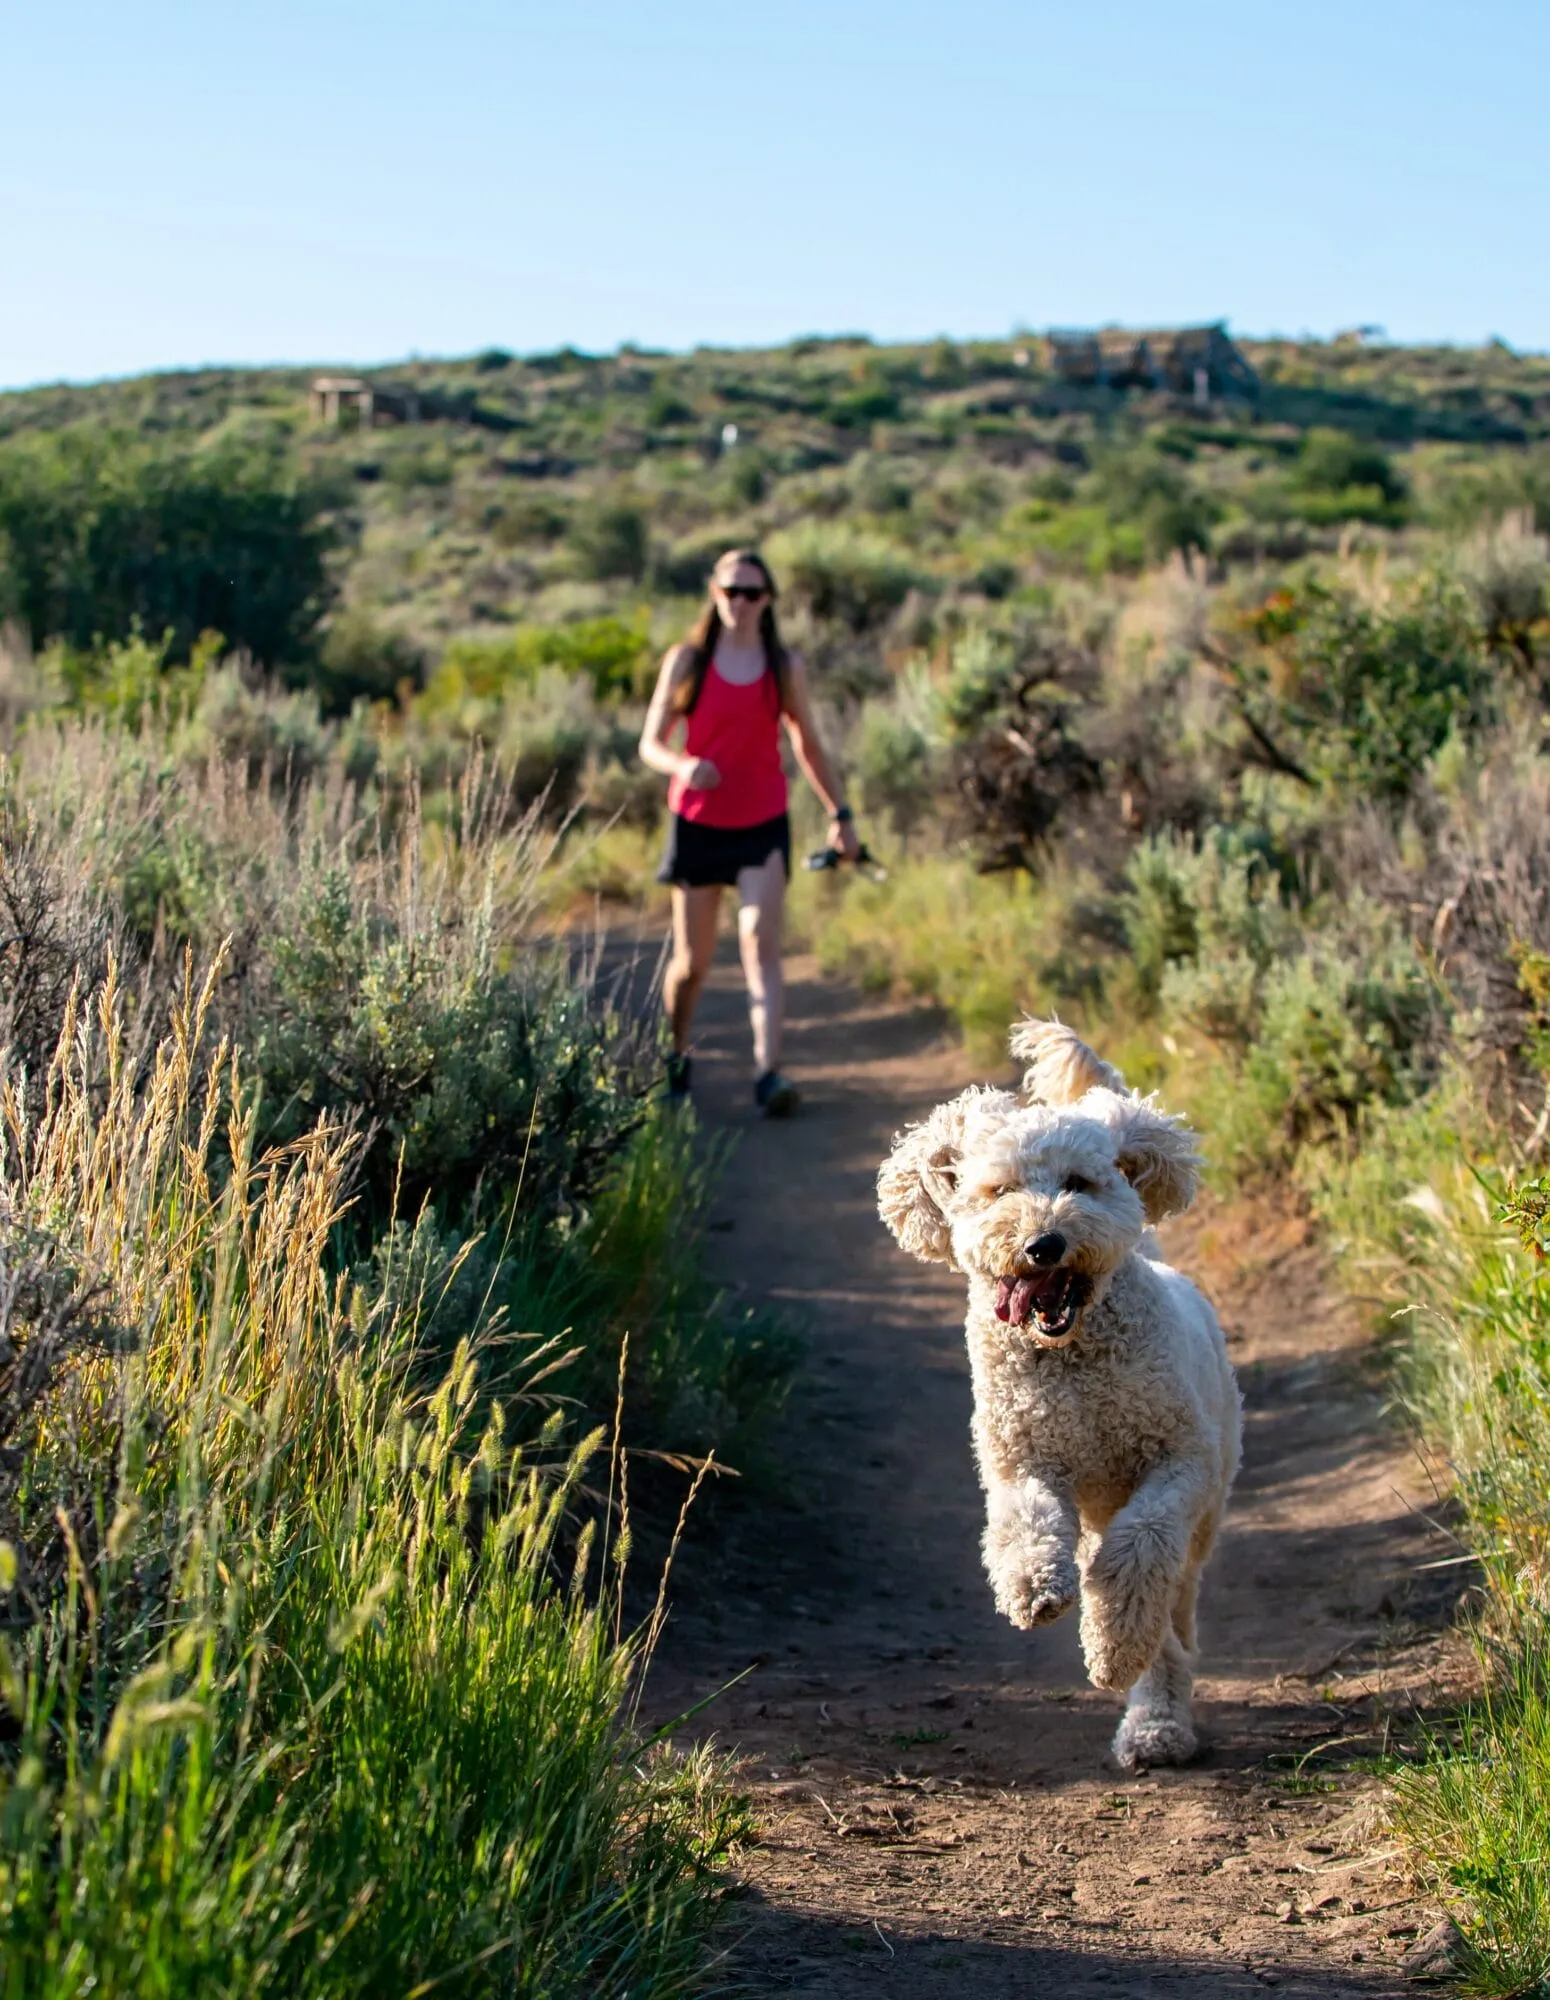
[[[1500,1142],[1450,1070],[1304,1184],[1352,1288],[1400,1308],[1396,1388],[1480,1564],[1480,1694],[1396,1770],[1394,1824],[1460,1924],[1464,1990],[1506,2000],[1550,1990],[1550,1264],[1532,1196],[1480,1164]]]

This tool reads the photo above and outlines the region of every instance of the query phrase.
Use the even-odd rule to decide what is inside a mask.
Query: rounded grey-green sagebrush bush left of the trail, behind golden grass
[[[502,966],[494,882],[438,904],[306,846],[294,890],[274,886],[272,938],[236,996],[264,1140],[362,1120],[374,1218],[428,1196],[458,1212],[518,1176],[528,1212],[572,1216],[634,1130],[638,1086],[560,956]]]

